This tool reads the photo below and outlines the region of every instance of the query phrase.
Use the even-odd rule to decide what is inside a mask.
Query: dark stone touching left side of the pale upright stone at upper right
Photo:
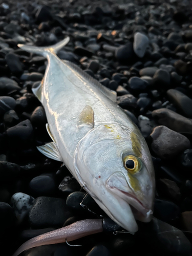
[[[136,55],[133,50],[133,43],[128,42],[124,46],[120,46],[115,51],[115,57],[120,62],[134,62]]]

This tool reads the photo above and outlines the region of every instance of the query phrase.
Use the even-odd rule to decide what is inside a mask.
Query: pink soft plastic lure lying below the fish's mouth
[[[40,236],[28,240],[21,245],[12,256],[17,256],[23,251],[36,246],[64,243],[66,240],[67,242],[70,242],[102,231],[102,219],[77,221],[66,227],[40,234]]]

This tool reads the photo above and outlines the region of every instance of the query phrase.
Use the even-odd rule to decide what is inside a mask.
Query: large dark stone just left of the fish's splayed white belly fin
[[[25,120],[7,130],[10,146],[14,148],[29,147],[33,142],[33,126]]]

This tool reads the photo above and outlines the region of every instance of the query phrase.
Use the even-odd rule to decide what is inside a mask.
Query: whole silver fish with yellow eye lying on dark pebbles
[[[48,60],[44,79],[32,91],[44,106],[52,142],[37,148],[63,162],[106,215],[135,233],[137,220],[150,222],[153,217],[150,151],[138,127],[116,103],[116,92],[57,57],[69,40],[51,47],[18,45]]]

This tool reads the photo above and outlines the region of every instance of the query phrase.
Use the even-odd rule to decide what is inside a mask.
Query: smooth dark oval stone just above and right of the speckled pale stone
[[[56,183],[53,175],[39,175],[29,183],[31,193],[36,196],[52,196],[56,191]]]

